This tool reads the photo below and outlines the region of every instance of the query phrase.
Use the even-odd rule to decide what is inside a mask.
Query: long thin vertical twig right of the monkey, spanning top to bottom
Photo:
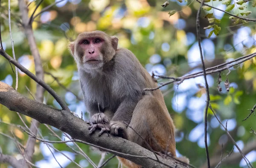
[[[210,166],[209,151],[208,151],[208,145],[207,145],[207,113],[208,113],[210,95],[209,95],[209,86],[208,86],[207,78],[206,78],[206,71],[205,71],[205,64],[204,64],[204,57],[203,57],[203,52],[202,52],[202,47],[201,47],[201,36],[200,36],[200,14],[201,14],[201,8],[202,8],[203,4],[204,4],[204,0],[201,1],[201,5],[197,12],[196,32],[197,32],[197,37],[198,37],[198,46],[199,46],[199,50],[200,50],[201,62],[203,65],[205,89],[206,89],[206,94],[207,94],[207,101],[206,101],[206,107],[205,107],[205,113],[204,113],[204,144],[205,144],[205,151],[206,151],[206,157],[207,157],[207,165],[208,165],[208,168],[210,168],[211,166]]]

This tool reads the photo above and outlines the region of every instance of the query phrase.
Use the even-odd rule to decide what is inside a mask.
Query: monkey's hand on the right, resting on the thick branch
[[[126,126],[121,121],[111,121],[111,134],[127,139]]]

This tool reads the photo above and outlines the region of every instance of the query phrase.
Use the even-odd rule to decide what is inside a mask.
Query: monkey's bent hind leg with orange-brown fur
[[[127,128],[128,140],[154,151],[167,151],[176,157],[175,126],[166,107],[150,95],[145,95],[134,109],[130,127]],[[133,130],[134,129],[134,130]],[[140,134],[141,138],[138,134]],[[144,140],[143,140],[144,139]],[[151,148],[148,147],[151,146]],[[128,168],[140,168],[135,163],[119,158]]]

